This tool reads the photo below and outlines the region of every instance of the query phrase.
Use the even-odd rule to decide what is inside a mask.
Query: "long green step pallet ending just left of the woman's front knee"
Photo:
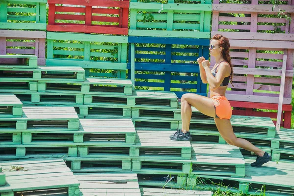
[[[131,96],[85,95],[86,105],[129,106],[140,108],[176,109],[178,98],[173,92],[135,90]]]

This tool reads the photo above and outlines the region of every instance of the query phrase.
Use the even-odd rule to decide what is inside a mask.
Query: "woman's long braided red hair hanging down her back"
[[[221,34],[214,35],[212,39],[217,40],[219,47],[223,48],[222,57],[231,66],[230,82],[231,82],[232,86],[234,87],[234,85],[232,83],[233,82],[233,64],[231,62],[231,57],[230,57],[230,42],[229,42],[229,39],[222,36]]]

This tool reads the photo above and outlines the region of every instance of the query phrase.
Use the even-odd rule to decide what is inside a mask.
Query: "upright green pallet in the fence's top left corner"
[[[11,7],[8,4],[13,4]],[[0,7],[0,29],[46,30],[47,0],[3,0]],[[30,21],[29,23],[27,21]]]

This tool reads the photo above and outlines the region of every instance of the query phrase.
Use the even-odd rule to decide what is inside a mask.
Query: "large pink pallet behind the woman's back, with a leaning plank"
[[[230,45],[234,87],[228,86],[228,100],[291,104],[294,42],[230,39]]]

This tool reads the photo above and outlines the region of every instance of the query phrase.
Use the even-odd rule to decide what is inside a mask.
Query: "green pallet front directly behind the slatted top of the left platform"
[[[80,93],[17,93],[24,105],[57,105],[57,106],[78,106],[83,104],[84,95]]]

